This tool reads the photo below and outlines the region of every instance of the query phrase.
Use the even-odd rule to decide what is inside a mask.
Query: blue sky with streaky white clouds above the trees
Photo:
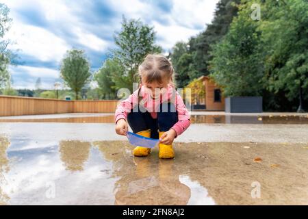
[[[18,65],[10,66],[13,88],[53,89],[60,62],[69,49],[83,49],[95,72],[114,48],[123,15],[154,27],[156,44],[167,53],[178,41],[187,42],[214,18],[218,0],[1,0],[13,23],[5,35],[14,42]]]

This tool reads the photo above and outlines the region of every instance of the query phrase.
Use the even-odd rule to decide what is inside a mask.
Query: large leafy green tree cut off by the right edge
[[[283,90],[298,112],[308,99],[308,3],[305,0],[266,1],[260,29],[266,50],[266,81],[275,93]]]

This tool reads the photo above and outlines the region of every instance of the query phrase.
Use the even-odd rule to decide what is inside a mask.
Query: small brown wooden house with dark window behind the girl
[[[224,96],[219,86],[213,79],[201,76],[198,80],[203,81],[205,86],[205,110],[224,110]]]

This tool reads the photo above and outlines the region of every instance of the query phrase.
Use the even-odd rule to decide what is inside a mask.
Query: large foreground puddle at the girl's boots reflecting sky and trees
[[[307,146],[175,143],[175,159],[162,160],[157,147],[133,157],[125,141],[0,137],[0,204],[307,205]]]

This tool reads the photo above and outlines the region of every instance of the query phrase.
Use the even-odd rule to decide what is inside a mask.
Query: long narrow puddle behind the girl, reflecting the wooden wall
[[[308,124],[308,116],[244,116],[244,115],[192,115],[192,123],[206,124]],[[68,118],[8,118],[0,123],[114,123],[114,116],[89,116]]]

